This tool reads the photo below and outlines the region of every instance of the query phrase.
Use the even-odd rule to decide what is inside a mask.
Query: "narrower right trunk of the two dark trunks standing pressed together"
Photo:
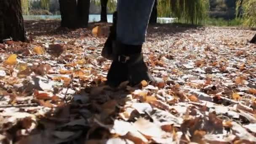
[[[90,0],[77,0],[77,14],[79,27],[87,27],[89,20]]]

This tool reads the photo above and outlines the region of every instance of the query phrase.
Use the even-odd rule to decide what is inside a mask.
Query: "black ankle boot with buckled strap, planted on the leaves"
[[[137,85],[142,80],[160,83],[163,80],[152,77],[141,53],[142,45],[113,45],[113,62],[107,75],[107,84],[117,87],[124,81]],[[156,81],[157,80],[157,81]]]

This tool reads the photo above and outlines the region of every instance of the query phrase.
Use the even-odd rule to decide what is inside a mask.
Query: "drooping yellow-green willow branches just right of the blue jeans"
[[[208,0],[158,0],[158,16],[175,17],[188,24],[202,24],[208,17]]]

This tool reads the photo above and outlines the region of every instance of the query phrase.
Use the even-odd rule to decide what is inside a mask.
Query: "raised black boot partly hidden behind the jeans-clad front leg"
[[[112,56],[112,43],[116,40],[116,29],[117,29],[117,11],[113,13],[113,25],[110,27],[109,36],[104,43],[104,48],[102,49],[101,56],[106,59],[113,60]]]

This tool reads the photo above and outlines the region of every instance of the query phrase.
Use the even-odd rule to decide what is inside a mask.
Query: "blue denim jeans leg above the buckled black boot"
[[[118,0],[117,41],[128,45],[145,42],[155,0]]]

